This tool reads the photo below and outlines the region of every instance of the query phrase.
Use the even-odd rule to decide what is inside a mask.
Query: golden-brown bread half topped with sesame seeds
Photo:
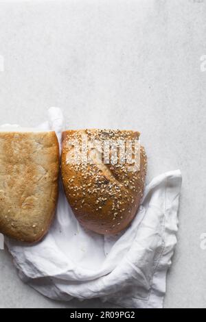
[[[72,164],[72,140],[81,143],[82,135],[92,140],[138,140],[139,132],[120,130],[69,130],[62,133],[61,173],[65,194],[78,221],[99,234],[117,234],[134,219],[144,192],[147,158],[139,147],[140,166],[128,171],[130,164],[98,164],[94,158],[85,164]],[[92,158],[92,157],[91,157]]]

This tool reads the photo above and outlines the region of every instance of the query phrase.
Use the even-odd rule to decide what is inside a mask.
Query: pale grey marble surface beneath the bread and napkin
[[[36,125],[58,106],[68,128],[139,130],[148,182],[181,169],[165,308],[206,307],[205,17],[204,0],[0,2],[1,123]],[[0,251],[0,307],[111,305],[50,301],[23,284]]]

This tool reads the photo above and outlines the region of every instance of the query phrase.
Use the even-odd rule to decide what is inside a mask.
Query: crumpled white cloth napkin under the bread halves
[[[40,129],[62,131],[63,116],[49,109]],[[176,245],[181,172],[163,173],[146,186],[132,225],[117,236],[84,230],[60,184],[56,218],[37,245],[6,238],[19,276],[43,295],[69,301],[100,297],[124,308],[162,308]]]

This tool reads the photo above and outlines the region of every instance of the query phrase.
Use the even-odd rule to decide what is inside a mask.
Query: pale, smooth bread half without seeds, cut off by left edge
[[[0,232],[36,243],[47,233],[58,199],[56,134],[3,129],[0,155]]]

